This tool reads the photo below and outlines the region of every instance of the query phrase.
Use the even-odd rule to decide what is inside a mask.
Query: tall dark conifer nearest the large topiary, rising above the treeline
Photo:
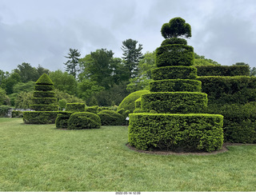
[[[123,59],[129,70],[129,78],[135,78],[138,75],[138,62],[142,59],[142,44],[138,44],[133,39],[126,39],[122,42]]]

